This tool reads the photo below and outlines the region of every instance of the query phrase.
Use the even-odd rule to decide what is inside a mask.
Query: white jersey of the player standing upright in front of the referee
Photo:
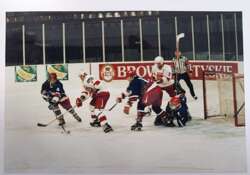
[[[163,75],[163,82],[159,84],[160,87],[167,87],[174,84],[171,66],[164,64],[162,68],[159,68],[157,64],[154,64],[152,66],[152,76],[157,76],[159,73]]]

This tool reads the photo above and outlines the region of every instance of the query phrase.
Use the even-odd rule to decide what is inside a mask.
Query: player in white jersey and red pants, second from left
[[[102,81],[94,79],[92,75],[87,75],[85,72],[80,73],[80,79],[83,83],[84,90],[81,96],[76,99],[76,105],[82,106],[89,97],[91,101],[89,103],[89,109],[91,112],[91,118],[93,122],[90,123],[92,127],[103,127],[105,133],[113,131],[112,127],[107,122],[107,117],[104,114],[104,108],[109,100],[110,93],[102,86]],[[99,114],[96,114],[96,110]]]

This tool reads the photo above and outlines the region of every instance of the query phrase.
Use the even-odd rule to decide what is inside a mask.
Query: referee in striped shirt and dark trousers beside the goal
[[[175,57],[173,58],[173,63],[174,63],[173,73],[175,75],[175,81],[179,82],[181,79],[183,79],[190,90],[190,94],[195,100],[197,100],[197,96],[194,93],[193,84],[190,81],[190,77],[188,74],[189,70],[188,70],[187,57],[182,56],[181,52],[179,50],[176,50]]]

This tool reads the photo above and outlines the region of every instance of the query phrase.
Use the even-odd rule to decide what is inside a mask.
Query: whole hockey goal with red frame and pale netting
[[[242,74],[203,72],[204,117],[223,117],[245,126],[245,93]]]

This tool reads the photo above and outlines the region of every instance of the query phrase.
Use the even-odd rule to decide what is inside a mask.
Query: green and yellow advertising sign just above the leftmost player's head
[[[68,80],[69,79],[68,65],[67,64],[47,65],[46,71],[47,71],[47,77],[48,77],[48,74],[54,72],[54,73],[56,73],[57,78],[59,80]]]

